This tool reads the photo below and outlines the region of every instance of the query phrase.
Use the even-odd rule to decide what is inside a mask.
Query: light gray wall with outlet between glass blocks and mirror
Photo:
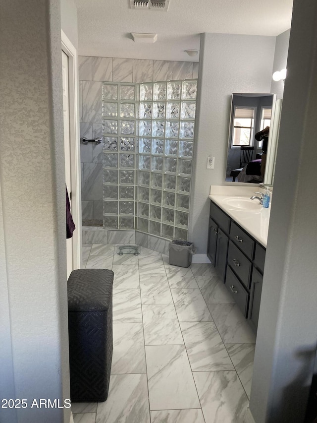
[[[232,93],[269,93],[275,37],[202,34],[189,240],[206,254],[210,185],[224,184]],[[215,157],[207,169],[207,157]]]

